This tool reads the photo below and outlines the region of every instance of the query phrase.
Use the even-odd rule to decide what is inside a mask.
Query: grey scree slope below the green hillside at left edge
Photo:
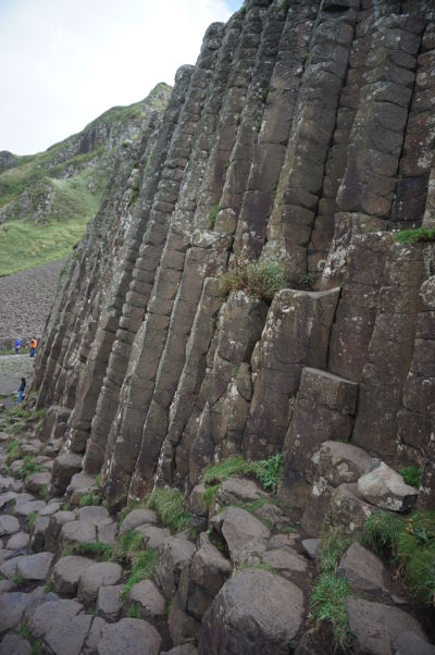
[[[44,333],[64,261],[0,277],[0,349]]]

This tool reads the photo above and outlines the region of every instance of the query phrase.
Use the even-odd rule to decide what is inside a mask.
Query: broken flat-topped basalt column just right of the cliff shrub
[[[284,289],[274,297],[252,355],[253,395],[243,438],[249,459],[263,459],[282,449],[302,368],[326,368],[338,296],[339,288]]]

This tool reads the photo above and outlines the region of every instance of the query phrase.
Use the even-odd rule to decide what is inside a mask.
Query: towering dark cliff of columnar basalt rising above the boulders
[[[33,383],[39,438],[62,438],[52,494],[98,474],[109,508],[188,498],[211,462],[283,453],[281,497],[312,535],[362,527],[378,465],[421,467],[434,506],[434,98],[431,0],[248,0],[208,29],[62,280]],[[250,261],[286,283],[225,297]],[[183,580],[176,643],[204,611]],[[212,650],[227,585],[201,652],[287,652],[237,650],[229,619]]]

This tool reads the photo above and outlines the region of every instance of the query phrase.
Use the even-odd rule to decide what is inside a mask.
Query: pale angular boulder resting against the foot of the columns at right
[[[372,459],[358,480],[361,496],[381,509],[406,511],[417,503],[418,490],[381,459]]]

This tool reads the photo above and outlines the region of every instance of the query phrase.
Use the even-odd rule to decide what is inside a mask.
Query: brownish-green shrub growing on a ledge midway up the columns
[[[252,298],[270,302],[286,287],[286,277],[279,264],[270,261],[239,261],[233,271],[222,275],[220,291],[223,298],[229,293],[244,291]]]

